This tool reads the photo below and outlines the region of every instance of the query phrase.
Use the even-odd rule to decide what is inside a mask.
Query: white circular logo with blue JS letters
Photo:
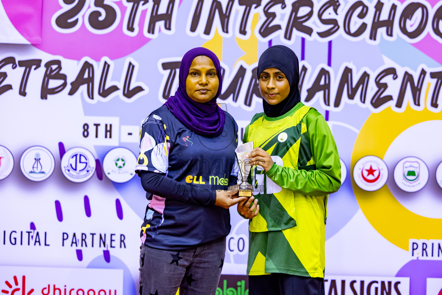
[[[95,157],[82,147],[68,149],[61,158],[61,172],[72,182],[89,180],[95,172]]]

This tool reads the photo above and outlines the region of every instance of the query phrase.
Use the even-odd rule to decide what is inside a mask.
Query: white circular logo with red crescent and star
[[[356,165],[354,165],[353,179],[358,187],[364,191],[377,191],[387,182],[387,165],[380,157],[362,157],[356,162]]]

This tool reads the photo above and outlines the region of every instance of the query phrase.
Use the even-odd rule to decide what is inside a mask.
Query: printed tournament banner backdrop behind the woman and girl
[[[0,265],[120,269],[136,295],[142,121],[175,92],[183,54],[204,46],[241,139],[263,111],[258,58],[284,44],[343,166],[328,199],[328,294],[441,294],[442,1],[0,4]],[[244,295],[248,222],[230,211],[217,294]]]

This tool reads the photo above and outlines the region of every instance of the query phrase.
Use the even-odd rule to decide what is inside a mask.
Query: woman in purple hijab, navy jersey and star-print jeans
[[[149,204],[141,225],[140,295],[215,294],[230,232],[245,199],[233,169],[238,126],[217,105],[218,58],[189,50],[174,96],[144,121],[136,171]]]

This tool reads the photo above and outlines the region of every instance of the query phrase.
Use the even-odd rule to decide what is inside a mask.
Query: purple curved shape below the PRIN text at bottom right
[[[396,276],[410,277],[410,295],[425,295],[427,278],[442,278],[442,261],[411,260],[400,268]]]

